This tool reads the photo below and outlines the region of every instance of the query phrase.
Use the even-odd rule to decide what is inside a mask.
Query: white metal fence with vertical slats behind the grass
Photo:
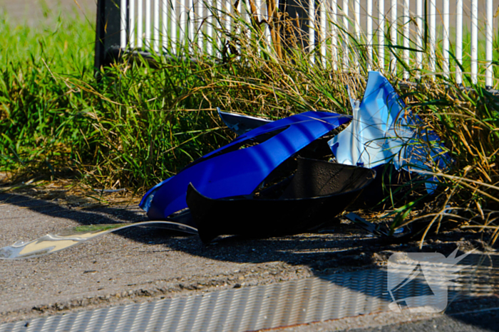
[[[187,50],[217,56],[222,39],[240,31],[240,20],[275,14],[262,0],[115,1],[120,1],[120,47],[155,53],[185,51],[180,45],[187,45]],[[458,83],[464,69],[472,82],[495,86],[499,0],[293,1],[308,13],[299,18],[292,7],[286,9],[289,17],[306,20],[312,63],[357,70],[363,62],[367,69],[398,70],[406,79],[412,69],[424,69],[456,75]],[[263,37],[272,45],[268,27]]]

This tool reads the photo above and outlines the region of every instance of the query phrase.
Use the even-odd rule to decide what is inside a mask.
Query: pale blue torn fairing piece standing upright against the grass
[[[340,164],[374,168],[393,162],[397,170],[444,168],[449,161],[440,139],[423,127],[421,119],[406,109],[390,82],[369,72],[361,102],[352,100],[351,124],[329,141]],[[430,158],[428,158],[430,156]],[[432,183],[426,186],[430,191]]]

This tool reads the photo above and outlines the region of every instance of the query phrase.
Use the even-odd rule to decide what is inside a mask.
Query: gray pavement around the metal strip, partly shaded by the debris
[[[0,247],[17,240],[34,240],[64,227],[146,219],[135,205],[85,206],[32,195],[0,194]],[[480,236],[456,231],[428,240],[426,251],[446,254],[456,245],[469,249],[482,243]],[[331,220],[319,233],[261,240],[225,237],[209,246],[202,245],[197,237],[132,228],[53,255],[0,261],[0,323],[287,280],[326,278],[338,272],[383,267],[392,252],[416,251],[416,247],[416,242],[381,243],[340,220]],[[499,304],[487,300],[473,310],[490,306]],[[381,313],[284,331],[374,331],[369,328],[380,327],[381,331],[416,331],[433,325],[454,326],[453,331],[495,329],[497,311],[456,315],[414,318]]]

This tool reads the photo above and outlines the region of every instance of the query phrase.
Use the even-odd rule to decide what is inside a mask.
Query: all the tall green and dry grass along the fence
[[[0,21],[0,171],[76,176],[98,188],[143,193],[234,138],[216,107],[277,119],[311,109],[348,113],[346,85],[361,97],[365,60],[359,73],[335,72],[311,66],[299,49],[279,57],[255,38],[258,27],[245,23],[243,30],[224,41],[224,50],[240,49],[239,56],[225,52],[220,62],[197,53],[195,63],[156,57],[154,67],[125,57],[96,80],[87,21],[58,18],[36,30]],[[389,77],[396,87],[398,75]],[[440,225],[444,207],[453,205],[471,213],[471,226],[497,225],[498,97],[468,81],[473,90],[461,90],[438,74],[419,83],[401,95],[454,161],[433,169],[443,174],[442,186],[426,223]],[[399,225],[423,218],[410,217],[414,206],[395,210]]]

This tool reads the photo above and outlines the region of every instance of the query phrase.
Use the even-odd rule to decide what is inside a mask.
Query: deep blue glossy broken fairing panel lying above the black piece
[[[350,119],[336,113],[305,112],[264,124],[159,183],[139,205],[151,219],[168,218],[187,208],[189,183],[214,199],[249,195],[279,164]],[[240,149],[248,143],[259,144]]]

